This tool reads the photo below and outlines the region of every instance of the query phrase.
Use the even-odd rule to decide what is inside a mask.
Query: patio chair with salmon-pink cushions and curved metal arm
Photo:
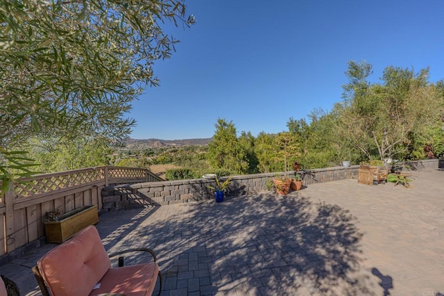
[[[111,267],[110,258],[135,251],[150,253],[153,262],[123,266],[119,257],[119,267]],[[151,249],[126,249],[108,256],[94,226],[51,249],[40,258],[33,273],[44,296],[151,295],[157,276],[162,291],[162,274]]]

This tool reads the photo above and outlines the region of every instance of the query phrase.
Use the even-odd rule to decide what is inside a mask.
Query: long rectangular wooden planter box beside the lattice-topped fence
[[[83,206],[63,214],[59,221],[44,222],[46,242],[62,243],[89,225],[99,222],[97,206]]]

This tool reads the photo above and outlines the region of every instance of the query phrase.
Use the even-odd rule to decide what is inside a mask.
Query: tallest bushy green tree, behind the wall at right
[[[405,154],[411,138],[436,124],[444,100],[429,83],[429,69],[386,67],[382,83],[370,83],[372,66],[348,63],[349,83],[343,85],[343,101],[334,106],[339,115],[339,134],[366,158]]]

